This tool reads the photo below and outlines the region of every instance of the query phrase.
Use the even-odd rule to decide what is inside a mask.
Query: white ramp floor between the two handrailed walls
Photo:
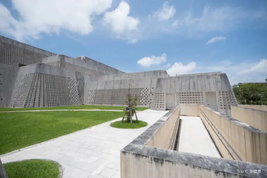
[[[204,124],[199,117],[180,116],[182,119],[178,151],[220,158]]]

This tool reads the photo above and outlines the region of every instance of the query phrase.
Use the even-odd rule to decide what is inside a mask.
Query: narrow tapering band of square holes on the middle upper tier
[[[47,64],[49,64],[51,66],[57,66],[57,67],[63,67],[65,69],[75,70],[75,71],[82,72],[82,73],[89,74],[89,75],[107,75],[107,74],[104,74],[102,72],[87,69],[85,67],[77,66],[77,65],[67,63],[64,61],[55,61],[55,62],[50,62]]]

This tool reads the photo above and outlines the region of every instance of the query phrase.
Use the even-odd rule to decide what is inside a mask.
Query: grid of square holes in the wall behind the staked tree
[[[147,88],[128,88],[125,89],[107,89],[107,90],[89,90],[88,105],[125,105],[128,95],[137,97],[138,106],[151,104],[151,96],[146,95],[149,92]]]

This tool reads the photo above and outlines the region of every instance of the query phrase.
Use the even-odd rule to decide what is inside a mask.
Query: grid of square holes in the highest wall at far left
[[[41,63],[42,58],[48,57],[4,42],[0,42],[0,49],[0,63],[12,66]]]

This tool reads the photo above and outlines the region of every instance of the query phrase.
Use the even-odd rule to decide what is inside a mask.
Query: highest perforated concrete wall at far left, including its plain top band
[[[41,63],[41,59],[55,55],[48,51],[0,36],[0,63],[12,66]]]

